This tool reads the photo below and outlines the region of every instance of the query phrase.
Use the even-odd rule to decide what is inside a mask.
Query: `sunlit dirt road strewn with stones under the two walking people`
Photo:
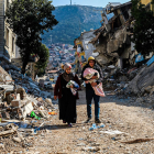
[[[91,123],[85,124],[86,98],[80,91],[77,102],[77,123],[68,128],[52,116],[48,122],[41,127],[37,134],[25,133],[26,140],[20,144],[12,136],[1,138],[1,153],[29,153],[29,154],[153,154],[154,141],[141,142],[138,139],[154,139],[154,111],[152,105],[134,101],[135,98],[118,98],[111,92],[101,98],[100,128],[90,131]],[[92,106],[94,113],[94,106]],[[37,121],[40,125],[43,121]],[[101,128],[103,127],[105,128]],[[28,129],[29,130],[29,129]],[[112,132],[114,131],[114,132]],[[13,135],[14,138],[14,135]],[[135,141],[138,140],[138,141]],[[122,143],[134,141],[140,143]]]

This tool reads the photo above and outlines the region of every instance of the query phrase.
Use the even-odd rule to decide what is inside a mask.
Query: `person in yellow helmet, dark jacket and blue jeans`
[[[94,86],[97,86],[98,84],[102,82],[102,79],[103,79],[103,76],[102,76],[102,70],[101,68],[96,64],[96,61],[92,56],[90,56],[88,58],[88,64],[85,65],[85,67],[82,68],[82,72],[81,72],[81,79],[82,80],[87,80],[86,78],[84,78],[84,72],[86,68],[94,68],[96,69],[99,75],[100,75],[100,78],[97,79],[96,82],[91,82],[91,84],[86,84],[86,101],[87,101],[87,114],[88,114],[88,119],[85,123],[88,123],[90,122],[91,120],[91,101],[94,99],[95,101],[95,122],[96,123],[101,123],[101,121],[99,120],[99,112],[100,112],[100,105],[99,105],[99,100],[100,100],[100,96],[97,96],[95,94],[95,90],[94,90]],[[91,79],[96,79],[97,76],[94,76]]]

